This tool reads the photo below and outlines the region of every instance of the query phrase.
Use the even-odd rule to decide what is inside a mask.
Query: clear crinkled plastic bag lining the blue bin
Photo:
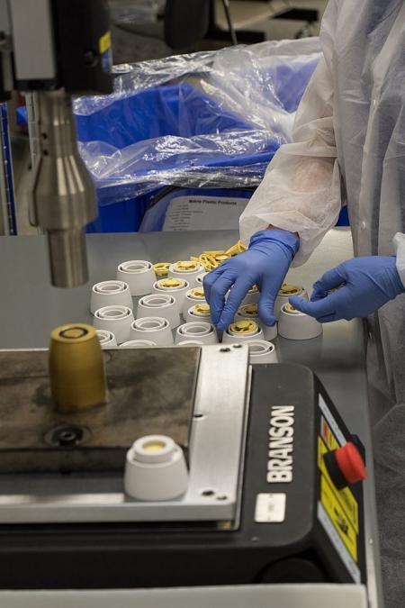
[[[112,95],[75,101],[99,204],[166,185],[257,186],[319,58],[311,38],[117,66]]]

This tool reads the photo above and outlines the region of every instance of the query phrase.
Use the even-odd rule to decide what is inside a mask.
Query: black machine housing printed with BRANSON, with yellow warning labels
[[[238,522],[2,525],[0,587],[365,583],[362,484],[338,490],[322,467],[323,452],[352,436],[319,379],[254,366],[247,425]],[[271,458],[277,433],[291,441]],[[272,459],[284,481],[269,482]],[[269,522],[256,521],[258,495],[269,497]],[[272,495],[284,495],[283,521],[272,521]]]

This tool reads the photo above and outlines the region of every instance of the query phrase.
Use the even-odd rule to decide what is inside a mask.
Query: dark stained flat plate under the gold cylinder
[[[126,450],[148,434],[169,435],[187,448],[200,349],[103,354],[107,404],[58,413],[48,351],[0,351],[0,472],[120,470]],[[72,432],[78,440],[66,445]]]

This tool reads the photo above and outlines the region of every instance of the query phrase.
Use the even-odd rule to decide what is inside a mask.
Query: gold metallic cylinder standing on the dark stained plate
[[[103,351],[91,325],[60,325],[50,333],[49,377],[54,402],[63,412],[105,403]]]

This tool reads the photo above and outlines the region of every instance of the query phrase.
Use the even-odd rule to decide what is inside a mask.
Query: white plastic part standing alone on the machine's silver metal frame
[[[183,449],[165,435],[135,441],[125,462],[124,489],[140,501],[166,501],[184,495],[188,470]]]

